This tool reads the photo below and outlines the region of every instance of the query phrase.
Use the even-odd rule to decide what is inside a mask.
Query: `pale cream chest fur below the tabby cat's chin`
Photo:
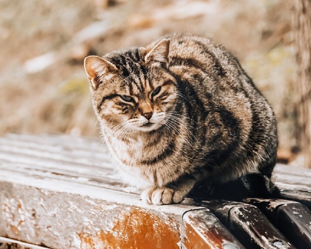
[[[174,170],[167,162],[144,164],[147,160],[156,158],[165,149],[165,139],[150,144],[153,137],[139,136],[120,140],[105,136],[109,151],[116,161],[118,171],[124,182],[140,188],[162,186],[174,178]]]

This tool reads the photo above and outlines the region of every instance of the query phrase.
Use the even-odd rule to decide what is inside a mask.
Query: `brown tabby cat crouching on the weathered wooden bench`
[[[276,117],[222,45],[172,34],[84,67],[104,140],[143,201],[179,203],[198,182],[237,179],[249,197],[271,194]]]

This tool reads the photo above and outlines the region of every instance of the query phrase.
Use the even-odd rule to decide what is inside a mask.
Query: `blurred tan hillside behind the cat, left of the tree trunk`
[[[83,59],[188,31],[239,58],[277,115],[279,161],[308,166],[295,10],[291,0],[2,0],[0,136],[98,137]]]

